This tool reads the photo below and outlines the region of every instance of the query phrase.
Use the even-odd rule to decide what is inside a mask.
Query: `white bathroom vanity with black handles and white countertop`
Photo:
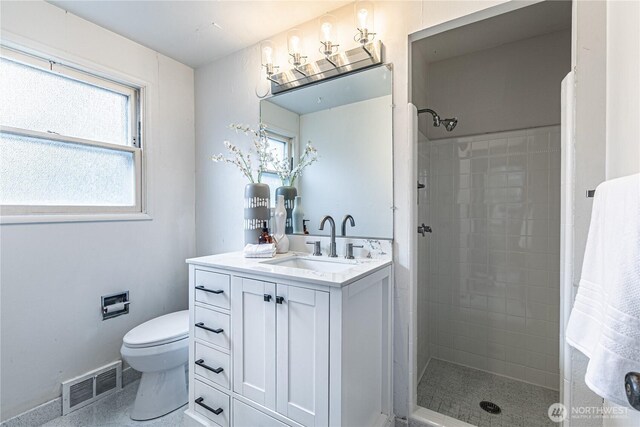
[[[187,262],[188,424],[390,424],[390,259]]]

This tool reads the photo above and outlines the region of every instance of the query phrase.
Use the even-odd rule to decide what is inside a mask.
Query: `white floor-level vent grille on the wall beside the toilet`
[[[117,361],[62,383],[62,415],[122,388],[122,362]]]

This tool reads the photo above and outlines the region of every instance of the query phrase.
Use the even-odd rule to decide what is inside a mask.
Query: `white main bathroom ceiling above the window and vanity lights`
[[[49,3],[193,68],[349,1],[77,1]]]

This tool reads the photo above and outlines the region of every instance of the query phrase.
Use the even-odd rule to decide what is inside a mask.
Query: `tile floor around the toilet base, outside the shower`
[[[138,384],[135,381],[122,388],[121,391],[107,396],[97,402],[80,408],[66,416],[58,417],[43,424],[43,427],[130,427],[130,426],[155,426],[155,427],[180,427],[183,425],[183,407],[150,421],[133,421],[129,418],[129,412],[133,408],[133,402],[138,392]]]

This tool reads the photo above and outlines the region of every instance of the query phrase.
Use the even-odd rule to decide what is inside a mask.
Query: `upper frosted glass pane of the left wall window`
[[[1,125],[131,145],[129,95],[7,58],[0,93]]]

